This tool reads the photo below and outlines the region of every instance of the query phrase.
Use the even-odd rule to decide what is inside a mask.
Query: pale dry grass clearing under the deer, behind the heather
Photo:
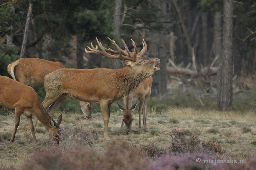
[[[199,99],[200,97],[200,99]],[[220,112],[216,106],[216,96],[200,93],[179,91],[157,100],[150,99],[147,116],[147,128],[139,129],[139,115],[134,111],[132,134],[126,135],[126,128],[120,129],[122,113],[117,104],[111,106],[108,126],[109,139],[103,135],[104,123],[98,104],[92,105],[92,120],[85,119],[81,111],[57,111],[54,115],[63,114],[62,126],[72,129],[76,126],[96,129],[98,137],[93,140],[91,147],[102,151],[111,140],[126,139],[132,145],[142,145],[154,142],[159,147],[169,147],[172,129],[185,129],[187,136],[199,135],[201,140],[213,141],[222,145],[227,152],[223,155],[243,157],[256,153],[256,114],[254,111],[256,95],[240,93],[234,96],[234,109]],[[200,101],[201,100],[201,101]],[[72,105],[77,107],[76,102]],[[33,138],[25,116],[21,116],[14,143],[10,143],[14,128],[14,112],[6,109],[0,111],[0,164],[20,167],[33,152]],[[48,136],[44,126],[39,123],[36,127],[36,138],[42,143]],[[63,146],[64,141],[60,141]],[[32,148],[32,149],[31,149]]]

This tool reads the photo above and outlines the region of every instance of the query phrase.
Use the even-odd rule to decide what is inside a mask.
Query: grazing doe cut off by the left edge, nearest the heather
[[[14,141],[20,123],[20,115],[22,114],[27,116],[28,124],[35,143],[37,143],[37,141],[32,116],[35,116],[42,122],[45,129],[49,132],[49,135],[56,137],[55,140],[59,144],[59,125],[62,121],[62,115],[59,116],[57,123],[54,122],[44,109],[32,87],[24,85],[11,78],[0,76],[0,109],[2,107],[15,110],[15,125],[11,142]]]

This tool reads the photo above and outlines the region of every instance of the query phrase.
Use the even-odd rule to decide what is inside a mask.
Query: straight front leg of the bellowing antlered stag
[[[108,138],[108,121],[110,116],[110,105],[108,101],[100,101],[100,109],[104,121],[104,138]]]

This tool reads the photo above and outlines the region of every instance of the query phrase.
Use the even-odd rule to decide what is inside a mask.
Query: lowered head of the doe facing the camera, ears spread
[[[121,105],[119,105],[119,103],[117,104],[120,110],[123,112],[123,121],[126,126],[127,134],[130,134],[132,132],[132,121],[133,121],[132,113],[136,109],[138,101],[131,108],[128,108],[128,105],[127,105],[127,108],[124,108]]]

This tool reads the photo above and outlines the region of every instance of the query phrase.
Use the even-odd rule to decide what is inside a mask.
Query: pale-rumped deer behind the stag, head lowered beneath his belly
[[[65,67],[60,62],[39,58],[20,58],[7,67],[8,73],[14,80],[31,86],[44,86],[44,76],[58,69],[65,69]],[[84,101],[79,101],[79,103],[85,117],[90,119],[92,117],[91,103]]]

